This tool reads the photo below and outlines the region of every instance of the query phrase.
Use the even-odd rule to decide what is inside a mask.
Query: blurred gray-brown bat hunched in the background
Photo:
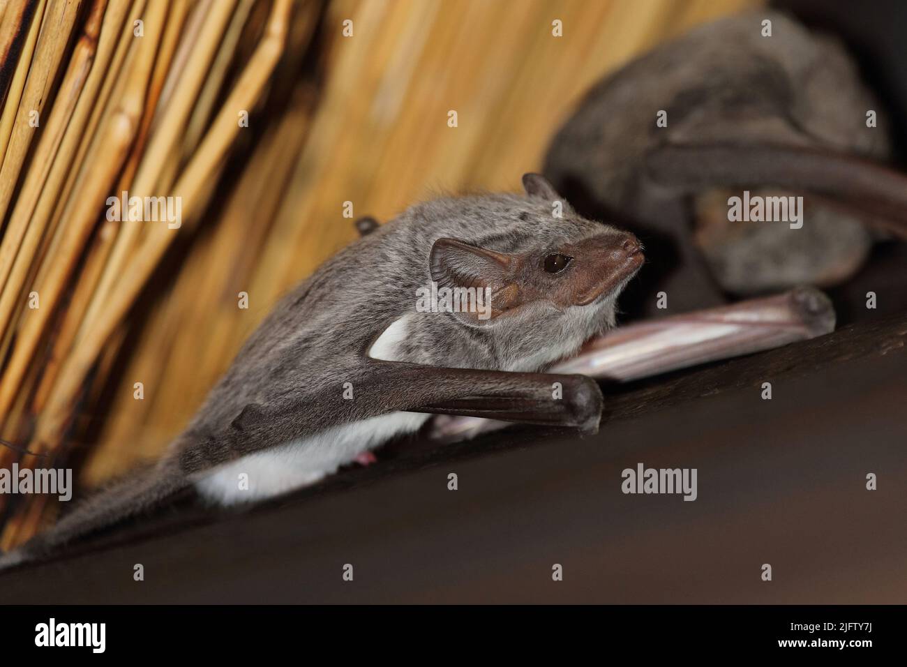
[[[678,267],[647,272],[672,310],[701,309],[725,292],[834,284],[874,239],[907,238],[907,178],[884,165],[887,124],[841,44],[759,10],[697,27],[595,85],[543,172],[578,211],[622,213],[657,270]],[[805,225],[729,221],[741,189],[803,196]]]

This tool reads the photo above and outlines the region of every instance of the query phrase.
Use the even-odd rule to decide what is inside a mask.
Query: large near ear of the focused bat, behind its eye
[[[513,275],[515,262],[513,255],[479,248],[462,240],[438,239],[432,246],[428,265],[439,295],[442,288],[475,288],[477,293],[481,292],[477,299],[491,295],[491,303],[482,301],[489,309],[484,317],[476,309],[461,310],[465,319],[473,320],[493,318],[504,309],[520,305],[519,289]]]

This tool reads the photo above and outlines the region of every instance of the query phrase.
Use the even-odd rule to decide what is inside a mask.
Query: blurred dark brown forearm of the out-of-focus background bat
[[[782,144],[668,143],[646,157],[653,181],[688,189],[777,186],[835,201],[907,239],[907,175],[824,148]]]

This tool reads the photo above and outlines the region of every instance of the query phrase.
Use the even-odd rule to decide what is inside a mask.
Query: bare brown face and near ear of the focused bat
[[[432,249],[431,270],[439,287],[490,288],[495,319],[540,300],[559,309],[587,306],[636,273],[643,260],[639,240],[623,231],[524,254],[439,239]]]

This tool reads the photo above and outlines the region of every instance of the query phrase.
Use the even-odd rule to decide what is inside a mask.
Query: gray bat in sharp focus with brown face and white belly
[[[307,486],[432,413],[597,431],[595,381],[538,371],[613,326],[642,249],[566,204],[555,215],[561,197],[541,176],[522,181],[526,196],[437,199],[359,227],[261,323],[157,466],[5,563],[188,486],[219,505]]]

